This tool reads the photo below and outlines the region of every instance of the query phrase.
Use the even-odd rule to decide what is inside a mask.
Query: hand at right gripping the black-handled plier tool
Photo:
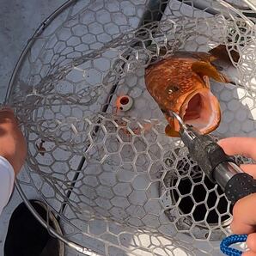
[[[256,138],[229,137],[219,141],[227,155],[244,155],[256,160]],[[256,164],[242,164],[241,169],[256,179]],[[256,256],[256,193],[238,200],[233,208],[232,231],[237,234],[248,234],[249,251],[243,256]]]

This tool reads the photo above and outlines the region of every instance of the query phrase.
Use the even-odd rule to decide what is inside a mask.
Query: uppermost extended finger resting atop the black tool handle
[[[256,159],[255,137],[227,137],[218,143],[227,155],[245,155]]]

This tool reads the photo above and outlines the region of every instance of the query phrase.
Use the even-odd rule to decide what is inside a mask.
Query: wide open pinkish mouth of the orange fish
[[[214,131],[220,123],[219,102],[209,88],[202,88],[189,94],[180,108],[180,116],[187,125],[196,127],[202,133]]]

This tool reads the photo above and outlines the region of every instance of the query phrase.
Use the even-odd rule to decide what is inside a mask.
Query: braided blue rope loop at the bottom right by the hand
[[[220,245],[221,251],[228,256],[240,256],[243,252],[229,246],[244,241],[247,241],[247,235],[230,235],[222,240]]]

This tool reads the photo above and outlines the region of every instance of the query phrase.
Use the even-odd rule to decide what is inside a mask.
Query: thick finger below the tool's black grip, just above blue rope
[[[256,193],[241,198],[233,208],[231,229],[235,234],[250,234],[255,231],[256,224]]]

